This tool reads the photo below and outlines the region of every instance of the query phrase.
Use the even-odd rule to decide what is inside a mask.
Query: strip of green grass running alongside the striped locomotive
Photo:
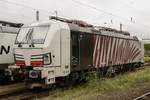
[[[48,100],[87,100],[106,92],[125,90],[139,83],[150,82],[150,68],[117,75],[114,78],[91,79],[69,89],[56,89],[50,92]]]

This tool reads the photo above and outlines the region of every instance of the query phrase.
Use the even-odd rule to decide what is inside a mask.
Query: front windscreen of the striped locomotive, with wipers
[[[45,41],[49,27],[50,27],[49,25],[23,27],[19,31],[16,43],[42,44]]]

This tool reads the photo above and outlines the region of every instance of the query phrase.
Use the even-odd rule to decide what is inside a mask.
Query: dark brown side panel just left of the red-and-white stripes
[[[93,35],[89,33],[80,34],[80,69],[88,69],[93,65]]]

